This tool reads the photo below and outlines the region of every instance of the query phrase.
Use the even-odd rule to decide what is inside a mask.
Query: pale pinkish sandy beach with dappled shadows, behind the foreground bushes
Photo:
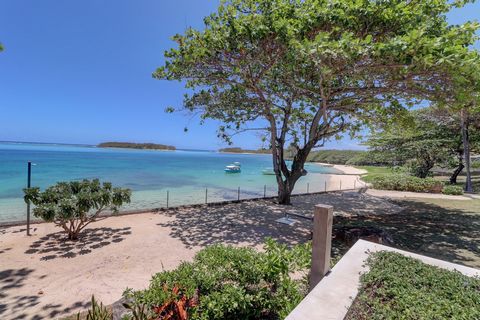
[[[358,187],[358,178],[326,177],[329,189]],[[210,244],[261,248],[266,237],[306,241],[308,220],[295,227],[275,220],[285,212],[309,215],[317,203],[330,203],[336,212],[342,207],[338,197],[316,194],[296,196],[289,207],[257,200],[113,216],[91,224],[77,242],[64,241],[51,223],[34,224],[31,236],[24,226],[3,227],[0,318],[57,318],[85,309],[92,294],[111,304],[127,287],[145,288],[152,274],[175,268]]]

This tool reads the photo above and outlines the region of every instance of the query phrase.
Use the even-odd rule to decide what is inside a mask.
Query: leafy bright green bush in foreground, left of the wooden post
[[[137,320],[153,316],[153,307],[172,298],[165,288],[174,287],[183,288],[188,297],[198,296],[189,319],[283,319],[306,294],[306,283],[290,275],[306,271],[310,255],[309,245],[288,249],[272,240],[265,252],[213,245],[198,252],[193,262],[154,275],[148,289],[127,290],[124,296]]]

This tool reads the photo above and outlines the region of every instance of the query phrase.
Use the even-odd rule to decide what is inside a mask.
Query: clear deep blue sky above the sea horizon
[[[202,27],[218,0],[1,0],[0,140],[135,141],[217,149],[218,123],[182,114],[181,83],[154,80],[170,37]],[[449,16],[480,18],[480,3]],[[189,127],[187,133],[183,132]],[[255,136],[235,145],[260,147]],[[328,148],[359,148],[343,139]]]

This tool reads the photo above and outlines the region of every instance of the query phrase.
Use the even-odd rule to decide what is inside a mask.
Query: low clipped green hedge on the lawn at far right
[[[371,179],[373,188],[380,190],[441,192],[443,183],[433,178],[418,178],[406,174],[389,174]]]

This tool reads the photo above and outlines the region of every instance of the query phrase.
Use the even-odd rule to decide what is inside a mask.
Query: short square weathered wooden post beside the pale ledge
[[[318,204],[313,213],[312,269],[310,291],[330,270],[333,207]]]

